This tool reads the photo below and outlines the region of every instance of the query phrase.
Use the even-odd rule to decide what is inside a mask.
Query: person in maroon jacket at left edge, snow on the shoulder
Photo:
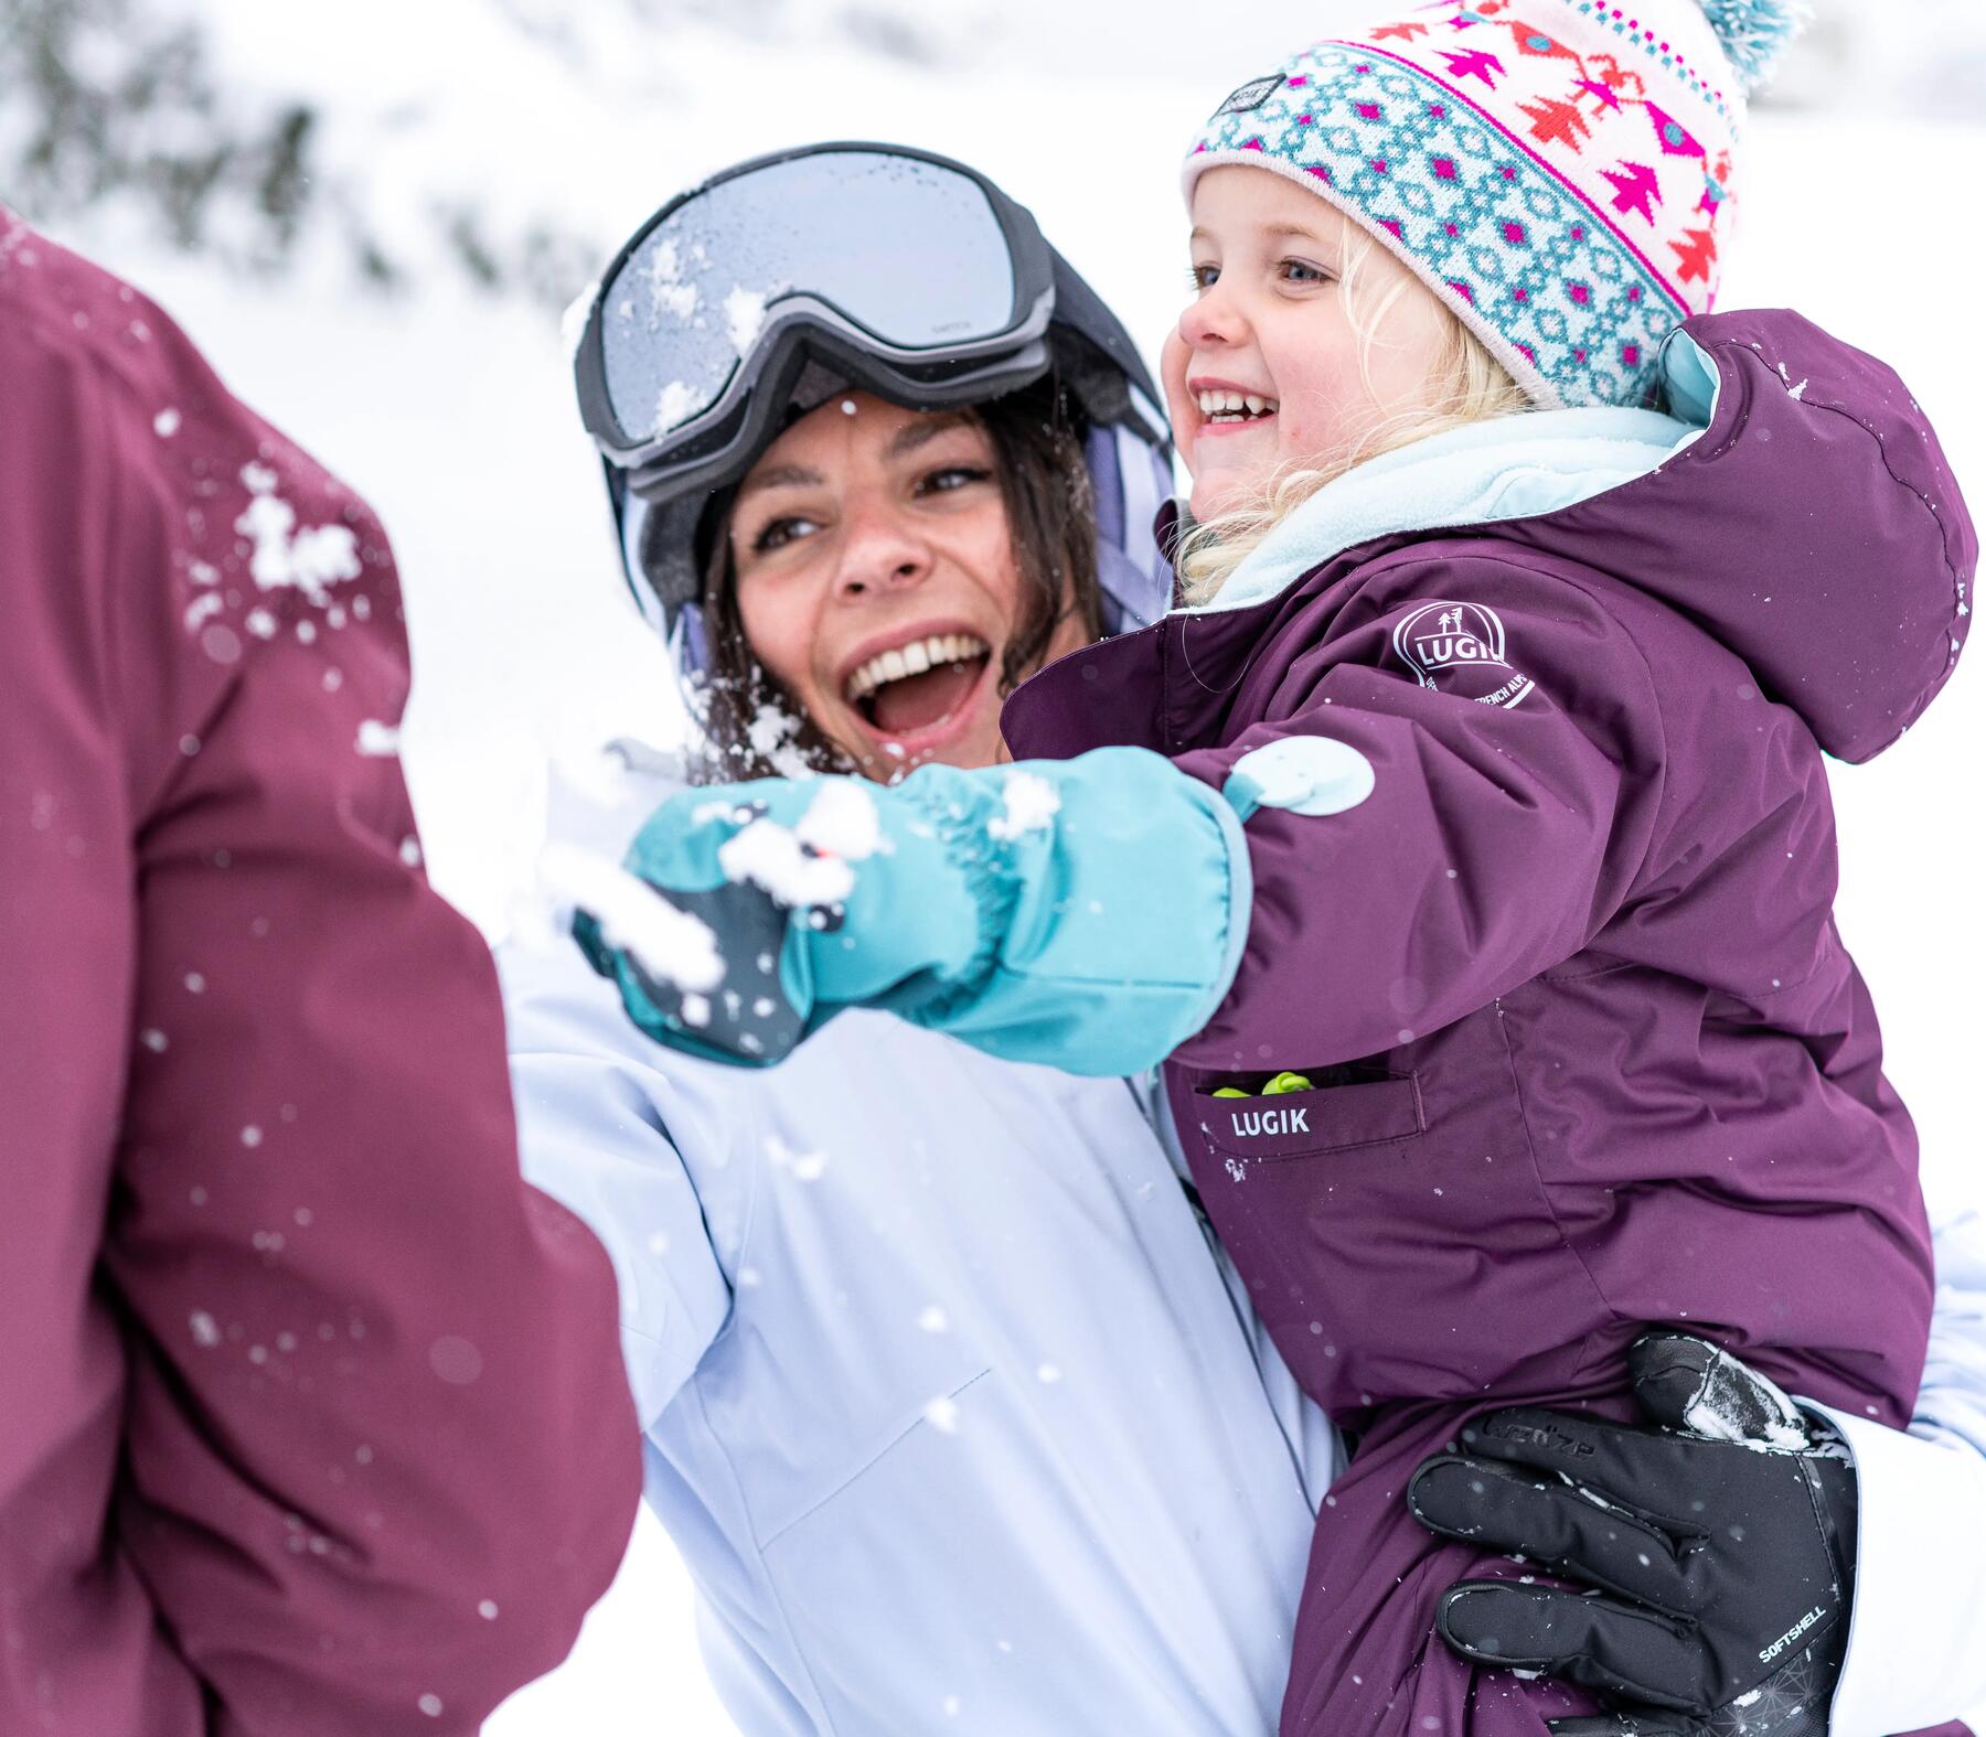
[[[475,1731],[639,1437],[421,871],[393,558],[4,208],[0,623],[0,1731]]]

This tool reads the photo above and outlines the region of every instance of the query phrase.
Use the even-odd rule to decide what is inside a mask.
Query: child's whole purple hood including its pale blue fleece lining
[[[1207,611],[1347,550],[1517,542],[1660,598],[1843,760],[1922,715],[1970,625],[1978,542],[1897,375],[1787,312],[1680,328],[1666,413],[1535,411],[1386,453],[1285,518]]]

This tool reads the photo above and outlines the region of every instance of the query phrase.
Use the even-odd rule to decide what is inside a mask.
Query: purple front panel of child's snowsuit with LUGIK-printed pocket
[[[1227,1078],[1172,1076],[1213,1227],[1285,1362],[1341,1421],[1394,1400],[1555,1390],[1595,1326],[1501,1024],[1482,1008],[1309,1074],[1311,1092],[1219,1098]]]

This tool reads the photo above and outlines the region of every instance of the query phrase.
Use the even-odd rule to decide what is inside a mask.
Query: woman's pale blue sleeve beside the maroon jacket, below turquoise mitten
[[[564,937],[500,955],[524,1175],[600,1237],[620,1278],[622,1356],[643,1431],[731,1312],[697,1189],[671,1139],[703,1134],[657,1050]],[[721,1137],[715,1130],[713,1137]]]

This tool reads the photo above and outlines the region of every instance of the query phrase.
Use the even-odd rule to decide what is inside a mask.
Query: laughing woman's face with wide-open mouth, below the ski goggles
[[[854,391],[786,429],[739,484],[745,637],[872,778],[1003,758],[1001,653],[1023,580],[995,465],[969,413]],[[1064,619],[1047,657],[1080,643]]]

